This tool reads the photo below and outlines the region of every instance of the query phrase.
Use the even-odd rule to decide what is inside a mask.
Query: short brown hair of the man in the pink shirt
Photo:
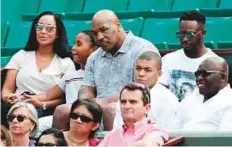
[[[121,100],[122,92],[125,89],[130,91],[140,90],[143,94],[142,101],[144,106],[151,102],[150,89],[146,85],[137,82],[132,82],[130,84],[125,85],[120,92],[120,97],[119,97],[120,100]]]

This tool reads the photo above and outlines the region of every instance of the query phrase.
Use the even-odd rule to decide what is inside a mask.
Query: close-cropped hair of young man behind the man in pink
[[[157,54],[154,51],[143,52],[141,55],[139,55],[137,60],[148,60],[148,61],[155,60],[157,68],[161,70],[161,66],[162,66],[161,57],[159,54]]]

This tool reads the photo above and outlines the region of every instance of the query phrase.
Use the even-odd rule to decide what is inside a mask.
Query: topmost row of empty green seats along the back
[[[80,13],[91,14],[104,8],[126,14],[127,12],[150,11],[151,9],[155,12],[175,12],[196,8],[203,8],[203,11],[206,12],[213,10],[216,12],[213,13],[214,15],[218,15],[218,10],[223,14],[232,12],[231,0],[2,0],[2,6],[4,6],[2,7],[2,14],[4,14],[1,18],[2,22],[32,20],[45,10],[54,11],[64,16],[67,14],[67,18],[73,13],[80,16]]]

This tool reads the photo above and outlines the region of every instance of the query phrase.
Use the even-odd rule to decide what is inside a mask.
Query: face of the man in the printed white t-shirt
[[[185,37],[180,38],[180,43],[184,48],[185,55],[189,58],[199,58],[207,52],[207,49],[203,43],[206,30],[203,24],[198,23],[195,20],[182,20],[179,24],[179,32],[187,33],[193,32],[193,39]]]

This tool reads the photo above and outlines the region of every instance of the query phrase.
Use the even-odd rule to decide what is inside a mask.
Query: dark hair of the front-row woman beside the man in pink
[[[102,115],[103,115],[102,108],[97,102],[91,99],[77,99],[72,104],[69,115],[74,111],[74,109],[76,109],[79,106],[85,106],[86,109],[93,115],[93,121],[96,123],[98,122],[99,124],[101,123]],[[69,123],[69,128],[70,128],[70,123]],[[94,137],[96,131],[97,130],[92,131],[89,135],[89,138]]]

